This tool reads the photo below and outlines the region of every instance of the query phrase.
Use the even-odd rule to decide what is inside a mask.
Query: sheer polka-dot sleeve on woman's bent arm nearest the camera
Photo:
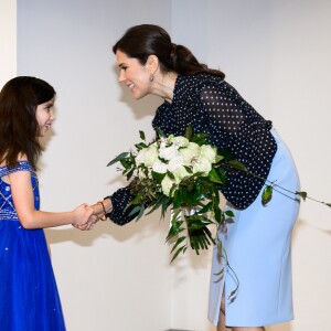
[[[227,201],[238,209],[248,207],[258,195],[269,173],[277,150],[270,134],[271,121],[265,120],[225,82],[201,90],[202,109],[211,142],[227,147],[252,174],[228,170],[227,184],[220,188]],[[259,177],[259,178],[258,178]]]

